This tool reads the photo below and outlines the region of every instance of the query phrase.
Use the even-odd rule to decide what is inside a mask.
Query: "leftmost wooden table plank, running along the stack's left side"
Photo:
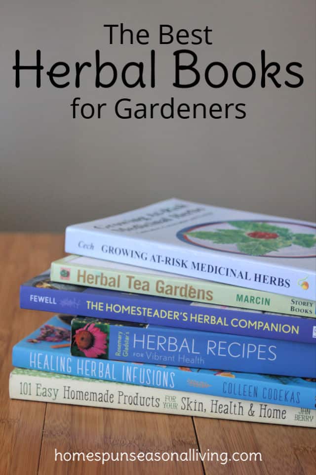
[[[12,346],[43,323],[43,312],[19,309],[19,285],[62,252],[62,238],[3,234],[0,238],[0,474],[38,472],[46,404],[11,401]]]

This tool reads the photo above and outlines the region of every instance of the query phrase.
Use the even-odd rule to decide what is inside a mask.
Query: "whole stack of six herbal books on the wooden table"
[[[10,396],[316,427],[316,226],[170,199],[66,229]]]

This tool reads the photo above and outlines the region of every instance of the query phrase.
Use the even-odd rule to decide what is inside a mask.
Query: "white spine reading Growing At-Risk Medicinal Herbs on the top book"
[[[245,261],[231,254],[205,254],[131,237],[66,228],[65,251],[197,279],[315,300],[316,276],[277,264]],[[232,272],[233,271],[233,272]],[[304,279],[309,287],[300,285]]]

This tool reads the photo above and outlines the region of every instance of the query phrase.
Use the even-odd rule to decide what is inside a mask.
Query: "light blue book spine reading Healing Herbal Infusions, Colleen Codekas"
[[[80,358],[57,354],[53,349],[42,352],[19,345],[13,347],[12,364],[62,375],[315,409],[315,388],[302,387],[295,381],[285,385],[282,380],[245,380],[237,375],[230,378],[188,368]]]

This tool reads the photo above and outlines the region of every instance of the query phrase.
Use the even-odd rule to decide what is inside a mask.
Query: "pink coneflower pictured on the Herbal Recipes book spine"
[[[98,358],[106,353],[107,333],[101,332],[94,323],[86,324],[83,328],[76,330],[74,340],[78,349],[87,358]]]

